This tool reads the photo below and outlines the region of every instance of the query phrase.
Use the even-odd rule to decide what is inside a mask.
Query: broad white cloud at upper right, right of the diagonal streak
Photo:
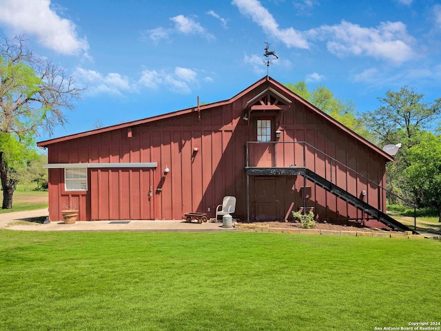
[[[415,56],[411,37],[402,22],[380,23],[377,28],[363,28],[342,21],[335,26],[321,26],[309,31],[311,37],[327,40],[327,49],[338,57],[347,54],[367,55],[400,64]]]

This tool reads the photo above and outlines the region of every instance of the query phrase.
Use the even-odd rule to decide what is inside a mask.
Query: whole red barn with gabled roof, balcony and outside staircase
[[[291,219],[408,230],[384,214],[391,156],[271,77],[232,99],[37,143],[48,148],[49,217]],[[167,171],[168,170],[168,171]]]

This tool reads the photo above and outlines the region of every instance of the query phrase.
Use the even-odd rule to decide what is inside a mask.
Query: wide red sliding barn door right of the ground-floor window
[[[139,168],[92,169],[92,220],[153,219],[150,197],[152,170]]]

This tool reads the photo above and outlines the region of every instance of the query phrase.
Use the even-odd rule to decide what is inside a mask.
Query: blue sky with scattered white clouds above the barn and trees
[[[441,97],[440,1],[0,0],[0,35],[18,34],[88,86],[52,137],[229,99],[267,74],[265,41],[271,77],[358,112],[402,86]]]

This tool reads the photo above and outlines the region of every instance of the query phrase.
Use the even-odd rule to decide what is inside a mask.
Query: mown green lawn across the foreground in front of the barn
[[[0,231],[0,330],[374,330],[440,321],[441,243]]]

